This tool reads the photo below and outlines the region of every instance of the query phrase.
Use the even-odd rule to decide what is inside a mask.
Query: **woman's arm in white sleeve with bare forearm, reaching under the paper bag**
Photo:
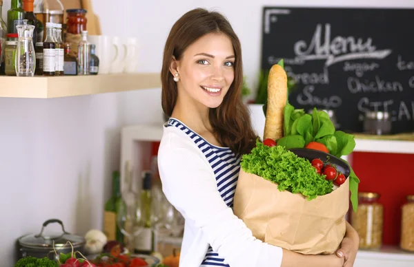
[[[342,266],[343,259],[335,255],[304,256],[282,251],[253,237],[246,224],[222,200],[204,156],[188,146],[177,148],[168,145],[169,142],[164,140],[159,149],[163,191],[185,219],[201,229],[213,250],[230,266]]]

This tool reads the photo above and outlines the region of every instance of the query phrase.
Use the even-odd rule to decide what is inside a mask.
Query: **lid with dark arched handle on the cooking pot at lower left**
[[[52,222],[58,222],[61,224],[62,233],[51,235],[43,234],[43,229]],[[74,247],[79,247],[86,243],[83,237],[66,232],[61,220],[57,219],[47,220],[44,222],[39,234],[23,235],[19,238],[19,244],[21,244],[21,246],[30,248],[53,248],[53,246],[55,246],[55,248],[63,248],[70,246],[68,242],[70,242]]]

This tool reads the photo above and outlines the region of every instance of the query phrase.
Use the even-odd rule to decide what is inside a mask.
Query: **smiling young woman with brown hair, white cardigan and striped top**
[[[353,266],[358,237],[349,224],[337,255],[301,255],[255,239],[233,214],[239,162],[257,136],[240,94],[240,42],[221,14],[195,9],[172,26],[161,81],[170,119],[159,173],[186,219],[180,267]]]

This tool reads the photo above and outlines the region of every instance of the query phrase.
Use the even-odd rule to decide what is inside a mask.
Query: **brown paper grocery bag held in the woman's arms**
[[[233,210],[263,242],[302,254],[333,254],[345,234],[348,180],[332,193],[307,200],[241,169]]]

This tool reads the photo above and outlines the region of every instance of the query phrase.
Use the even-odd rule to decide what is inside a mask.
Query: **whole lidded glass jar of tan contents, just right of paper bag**
[[[359,248],[380,248],[384,224],[384,208],[378,193],[358,193],[358,209],[353,211],[351,224],[359,235]]]

